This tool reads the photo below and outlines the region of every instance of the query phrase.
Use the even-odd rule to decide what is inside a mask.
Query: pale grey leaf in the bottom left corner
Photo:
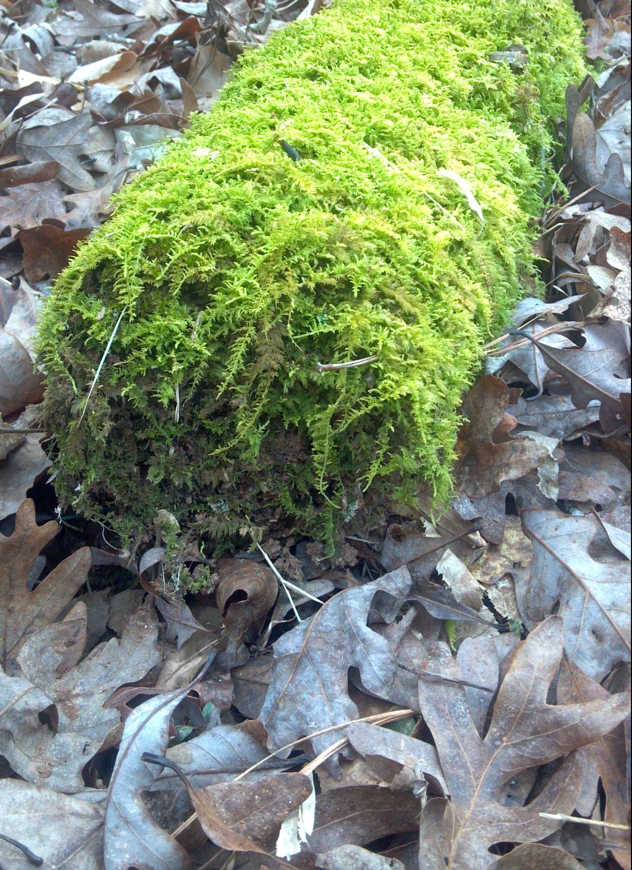
[[[43,859],[43,867],[101,870],[103,809],[45,786],[21,780],[0,780],[2,833],[19,840]],[[16,847],[0,838],[0,863],[5,870],[32,865]]]

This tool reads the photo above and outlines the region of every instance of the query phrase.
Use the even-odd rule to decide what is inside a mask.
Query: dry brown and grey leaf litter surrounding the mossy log
[[[9,870],[630,867],[627,0],[580,4],[601,66],[567,91],[548,295],[486,348],[440,516],[384,505],[337,563],[190,541],[174,574],[160,535],[117,550],[45,483],[41,298],[244,46],[321,5],[0,7]]]

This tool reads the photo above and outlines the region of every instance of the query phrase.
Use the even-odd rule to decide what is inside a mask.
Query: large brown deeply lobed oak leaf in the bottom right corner
[[[423,675],[419,702],[435,739],[450,800],[433,798],[420,823],[420,870],[486,870],[489,847],[535,842],[560,821],[539,813],[571,813],[580,793],[585,755],[575,749],[599,740],[629,712],[629,694],[578,704],[551,705],[547,693],[562,659],[563,626],[549,617],[510,654],[489,730],[482,739],[469,714],[462,686]],[[445,644],[429,654],[427,670],[461,678]],[[508,806],[509,780],[529,768],[563,759],[537,797]]]

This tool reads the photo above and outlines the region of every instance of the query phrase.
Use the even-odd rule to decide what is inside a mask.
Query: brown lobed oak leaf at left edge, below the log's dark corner
[[[50,625],[85,583],[88,546],[63,559],[32,592],[27,590],[37,556],[58,531],[54,520],[37,525],[35,504],[26,499],[17,509],[13,533],[8,538],[0,534],[0,657],[8,673],[27,637]]]

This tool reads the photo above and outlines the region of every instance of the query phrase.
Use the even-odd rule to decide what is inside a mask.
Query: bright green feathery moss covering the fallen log
[[[462,392],[533,274],[581,36],[569,0],[338,0],[247,52],[44,311],[63,503],[135,534],[164,508],[221,547],[283,522],[331,542],[424,482],[446,499]],[[512,43],[522,72],[489,60]]]

